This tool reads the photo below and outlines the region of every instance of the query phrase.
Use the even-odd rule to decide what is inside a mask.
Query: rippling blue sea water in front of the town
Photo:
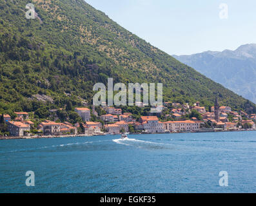
[[[1,140],[0,192],[256,192],[256,131],[119,138]]]

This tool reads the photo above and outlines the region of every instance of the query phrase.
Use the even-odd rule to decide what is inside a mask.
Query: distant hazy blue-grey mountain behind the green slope
[[[235,51],[173,57],[256,103],[256,44],[245,44]]]

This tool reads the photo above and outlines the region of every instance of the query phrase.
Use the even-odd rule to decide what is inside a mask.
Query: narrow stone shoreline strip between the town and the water
[[[131,133],[130,135],[155,135],[155,134],[184,134],[184,133],[223,133],[223,132],[238,132],[238,131],[256,131],[255,129],[242,129],[242,130],[236,130],[236,131],[228,131],[228,130],[224,130],[224,131],[193,131],[193,132],[170,132],[170,133],[153,133],[153,134],[149,134],[149,133]],[[90,136],[105,136],[105,135],[110,135],[110,134],[104,134],[104,135],[90,135]],[[121,134],[115,134],[112,136],[116,136],[116,135],[121,135]],[[54,135],[44,135],[44,136],[0,136],[0,140],[19,140],[19,139],[25,139],[25,140],[29,140],[29,139],[41,139],[41,138],[72,138],[72,137],[79,137],[79,136],[86,136],[86,135],[60,135],[60,136],[54,136]]]

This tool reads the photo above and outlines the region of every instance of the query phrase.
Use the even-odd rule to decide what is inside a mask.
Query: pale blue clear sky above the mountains
[[[170,55],[221,52],[256,43],[253,0],[85,1]]]

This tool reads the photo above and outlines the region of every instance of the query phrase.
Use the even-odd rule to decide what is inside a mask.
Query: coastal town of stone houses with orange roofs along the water
[[[137,104],[143,108],[143,104]],[[244,111],[232,111],[228,106],[215,105],[206,109],[195,102],[164,102],[161,113],[148,113],[140,117],[121,108],[101,106],[103,115],[98,115],[95,107],[75,108],[74,112],[81,118],[79,122],[61,121],[54,114],[49,119],[37,122],[30,114],[23,111],[14,112],[15,118],[9,114],[1,115],[1,130],[6,126],[2,138],[39,138],[56,136],[95,136],[117,135],[121,133],[153,134],[153,133],[193,133],[213,131],[244,131],[256,129],[256,115],[248,115]],[[52,113],[63,108],[52,109]],[[92,120],[94,117],[94,121]]]

